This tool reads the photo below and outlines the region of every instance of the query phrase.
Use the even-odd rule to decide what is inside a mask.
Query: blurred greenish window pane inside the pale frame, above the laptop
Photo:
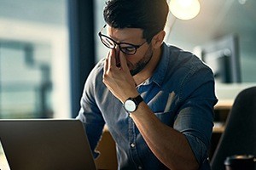
[[[49,58],[49,46],[0,41],[1,118],[52,117]]]

